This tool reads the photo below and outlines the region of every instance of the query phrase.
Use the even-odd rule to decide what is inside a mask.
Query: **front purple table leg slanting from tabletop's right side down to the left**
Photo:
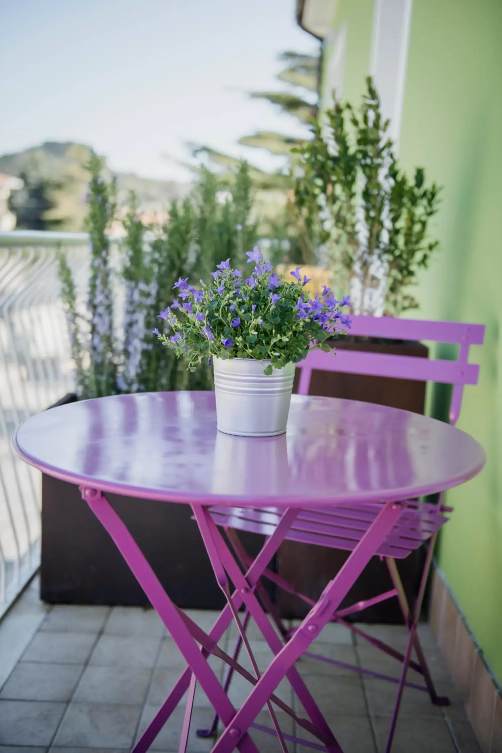
[[[354,547],[336,578],[324,589],[317,605],[312,608],[303,623],[297,628],[290,641],[275,655],[253,690],[236,713],[211,753],[230,753],[236,742],[244,735],[256,719],[263,703],[275,691],[278,683],[288,670],[306,651],[324,625],[330,621],[340,602],[357,580],[364,567],[376,553],[379,546],[406,509],[406,504],[389,503],[382,508],[370,528]],[[268,622],[268,620],[267,620]],[[274,633],[275,635],[275,633]],[[277,636],[275,636],[277,638]],[[329,748],[328,748],[329,750]]]

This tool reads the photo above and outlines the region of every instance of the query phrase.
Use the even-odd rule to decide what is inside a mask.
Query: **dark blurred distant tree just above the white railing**
[[[59,230],[64,221],[50,218],[50,212],[56,207],[53,194],[60,184],[47,178],[35,178],[24,171],[20,178],[23,188],[15,191],[8,201],[9,209],[16,215],[16,227],[19,230]]]

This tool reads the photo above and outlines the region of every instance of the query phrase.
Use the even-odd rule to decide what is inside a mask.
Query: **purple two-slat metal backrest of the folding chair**
[[[484,325],[394,319],[388,316],[354,316],[350,334],[389,340],[432,340],[436,343],[454,343],[460,347],[455,361],[341,348],[337,349],[336,356],[333,356],[332,353],[313,350],[309,352],[305,361],[297,364],[301,369],[298,388],[300,395],[309,394],[312,370],[451,384],[453,392],[450,421],[457,421],[464,385],[476,384],[478,381],[479,366],[468,362],[469,348],[471,345],[482,344]]]

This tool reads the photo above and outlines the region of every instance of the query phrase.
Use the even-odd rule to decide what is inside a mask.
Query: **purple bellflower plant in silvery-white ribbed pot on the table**
[[[254,263],[248,277],[227,259],[209,284],[195,288],[179,279],[178,298],[159,314],[169,332],[154,332],[190,369],[205,358],[214,364],[220,431],[274,436],[286,431],[295,364],[309,349],[331,350],[326,340],[350,327],[341,309],[351,303],[336,300],[326,286],[309,298],[300,267],[285,282],[257,246],[247,256]]]

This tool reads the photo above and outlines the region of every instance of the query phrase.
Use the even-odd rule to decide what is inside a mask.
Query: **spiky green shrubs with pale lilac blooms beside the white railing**
[[[102,167],[102,160],[92,154],[86,221],[91,246],[87,316],[78,314],[75,282],[65,255],[59,254],[78,392],[83,398],[94,398],[117,392],[211,389],[208,364],[190,372],[162,346],[154,330],[158,313],[174,300],[172,286],[177,279],[207,281],[224,258],[242,265],[246,250],[256,242],[248,167],[242,163],[230,184],[202,169],[192,194],[172,202],[163,227],[145,226],[131,194],[123,219],[125,236],[119,242],[123,312],[114,311],[111,294],[108,228],[115,212],[114,185],[103,180]],[[122,322],[120,338],[114,336],[114,321]]]

